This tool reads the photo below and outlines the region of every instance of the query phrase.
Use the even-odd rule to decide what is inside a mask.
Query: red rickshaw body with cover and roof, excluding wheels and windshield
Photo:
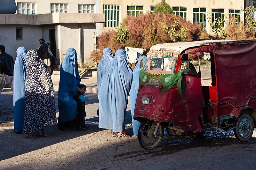
[[[185,44],[181,51],[176,50],[178,47],[167,49],[168,44],[150,49],[154,55],[157,51],[161,55],[165,50],[177,52],[176,74],[181,67],[182,55],[211,53],[212,86],[201,85],[200,67],[196,74],[182,74],[181,95],[177,85],[163,95],[158,86],[141,86],[135,105],[135,120],[163,122],[174,136],[232,127],[236,117],[243,112],[256,121],[256,41],[204,42],[197,45],[195,42],[194,46],[181,43],[182,46]],[[179,43],[175,44],[179,46]],[[143,97],[150,99],[148,105],[142,104]]]

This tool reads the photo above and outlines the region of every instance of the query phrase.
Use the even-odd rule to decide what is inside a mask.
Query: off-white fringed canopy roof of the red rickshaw
[[[175,42],[175,43],[164,43],[156,44],[152,46],[147,54],[147,58],[164,58],[180,55],[184,50],[206,46],[206,45],[224,45],[228,43],[243,43],[252,40],[204,40],[204,41],[191,41],[191,42]]]

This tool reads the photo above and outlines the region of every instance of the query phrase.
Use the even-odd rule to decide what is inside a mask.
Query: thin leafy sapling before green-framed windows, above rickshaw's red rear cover
[[[226,39],[229,35],[226,29],[223,29],[225,19],[227,19],[227,14],[223,17],[212,19],[212,15],[210,13],[207,14],[208,23],[212,27],[212,33],[214,34],[215,39]]]

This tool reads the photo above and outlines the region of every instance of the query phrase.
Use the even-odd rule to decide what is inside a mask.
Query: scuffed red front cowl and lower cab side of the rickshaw
[[[139,88],[133,118],[170,122],[185,131],[199,132],[198,118],[203,116],[201,78],[198,74],[182,75],[182,84],[181,95],[177,85],[162,95],[158,86]],[[143,97],[150,99],[149,105],[142,104]]]

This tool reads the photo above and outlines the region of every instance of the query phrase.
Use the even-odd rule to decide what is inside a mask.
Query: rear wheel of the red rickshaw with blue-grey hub
[[[248,114],[242,114],[234,122],[234,134],[237,140],[246,142],[252,137],[254,124],[252,117]]]

